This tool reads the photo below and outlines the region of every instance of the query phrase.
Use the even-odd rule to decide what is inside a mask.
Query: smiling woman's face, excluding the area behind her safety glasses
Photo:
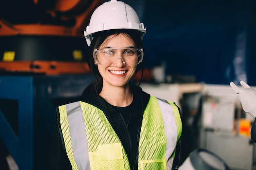
[[[110,35],[102,44],[99,49],[103,48],[135,48],[135,44],[132,39],[128,38],[124,34]],[[122,53],[120,51],[121,57]],[[103,78],[103,86],[113,87],[113,86],[126,86],[132,76],[135,74],[137,66],[126,66],[121,58],[117,57],[115,64],[111,66],[103,66],[94,62],[98,65],[99,73]],[[119,58],[119,59],[118,59]]]

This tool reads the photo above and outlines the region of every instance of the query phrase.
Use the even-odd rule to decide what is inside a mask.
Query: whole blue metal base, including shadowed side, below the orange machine
[[[18,101],[18,136],[0,110],[0,138],[19,170],[47,169],[56,114],[52,99],[79,97],[90,82],[92,75],[0,75],[0,99]]]

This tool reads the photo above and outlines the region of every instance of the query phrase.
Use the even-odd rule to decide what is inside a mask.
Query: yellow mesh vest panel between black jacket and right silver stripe
[[[154,110],[154,112],[152,112]],[[166,134],[155,97],[144,111],[139,139],[139,170],[166,170]]]

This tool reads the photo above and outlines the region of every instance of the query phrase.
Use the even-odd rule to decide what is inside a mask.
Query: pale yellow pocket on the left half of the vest
[[[124,170],[121,143],[99,145],[98,151],[89,152],[91,170]]]

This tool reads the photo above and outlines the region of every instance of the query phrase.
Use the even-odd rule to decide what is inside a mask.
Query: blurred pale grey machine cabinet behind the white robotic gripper
[[[253,121],[229,85],[205,84],[198,147],[214,152],[232,170],[255,170],[256,145],[250,137]]]

